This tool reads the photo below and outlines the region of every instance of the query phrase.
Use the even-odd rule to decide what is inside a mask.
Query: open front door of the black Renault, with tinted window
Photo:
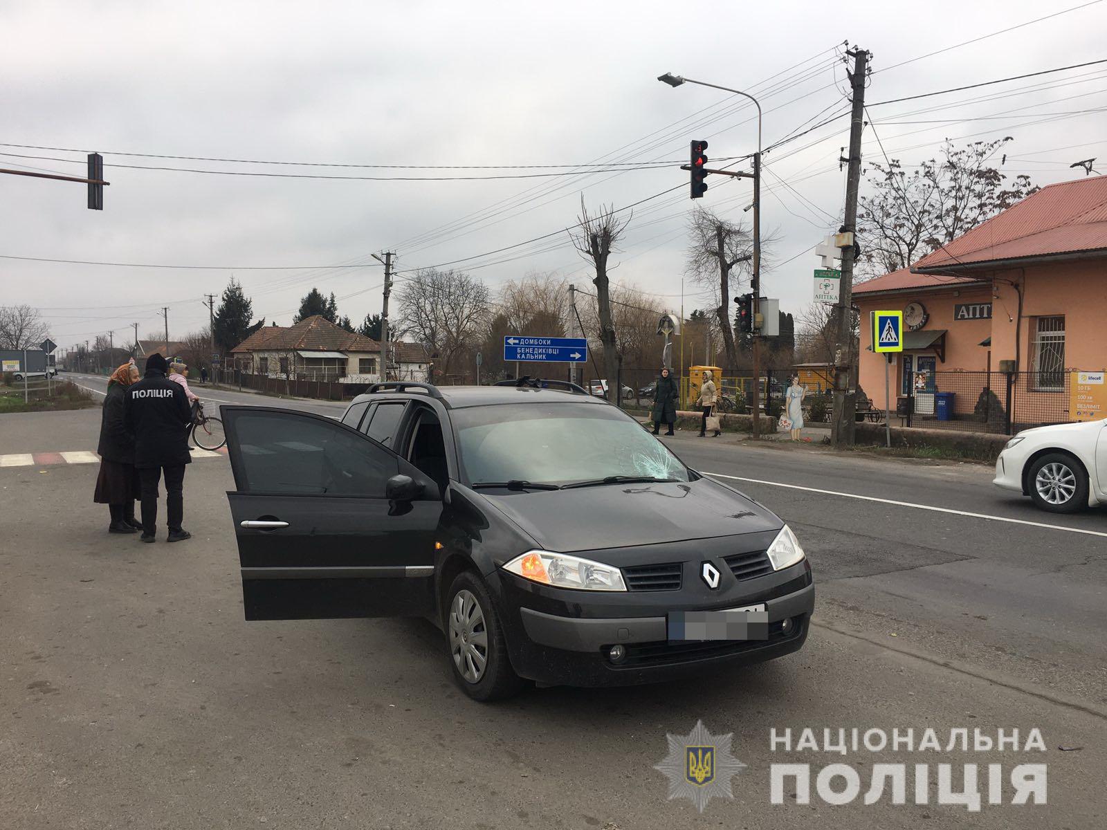
[[[224,406],[247,620],[434,610],[438,487],[321,415]]]

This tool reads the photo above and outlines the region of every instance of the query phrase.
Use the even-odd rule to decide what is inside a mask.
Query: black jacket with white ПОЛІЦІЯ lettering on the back
[[[135,436],[135,467],[176,467],[189,464],[188,397],[180,384],[149,370],[127,387],[126,426]]]

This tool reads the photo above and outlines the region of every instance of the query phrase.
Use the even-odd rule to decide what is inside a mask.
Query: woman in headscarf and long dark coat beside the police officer
[[[134,533],[142,527],[135,518],[138,474],[135,470],[135,442],[124,422],[127,386],[138,381],[138,367],[125,363],[112,373],[100,421],[100,475],[93,501],[107,505],[112,513],[111,533]]]

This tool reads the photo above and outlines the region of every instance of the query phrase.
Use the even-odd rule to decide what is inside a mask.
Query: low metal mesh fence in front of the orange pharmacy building
[[[904,426],[1014,435],[1070,421],[1069,384],[1068,371],[907,372],[894,417]]]

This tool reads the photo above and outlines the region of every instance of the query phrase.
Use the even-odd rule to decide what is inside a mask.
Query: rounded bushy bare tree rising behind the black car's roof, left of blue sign
[[[457,371],[458,357],[485,334],[488,287],[463,271],[417,271],[400,291],[400,317],[412,335],[437,353],[444,375]]]

